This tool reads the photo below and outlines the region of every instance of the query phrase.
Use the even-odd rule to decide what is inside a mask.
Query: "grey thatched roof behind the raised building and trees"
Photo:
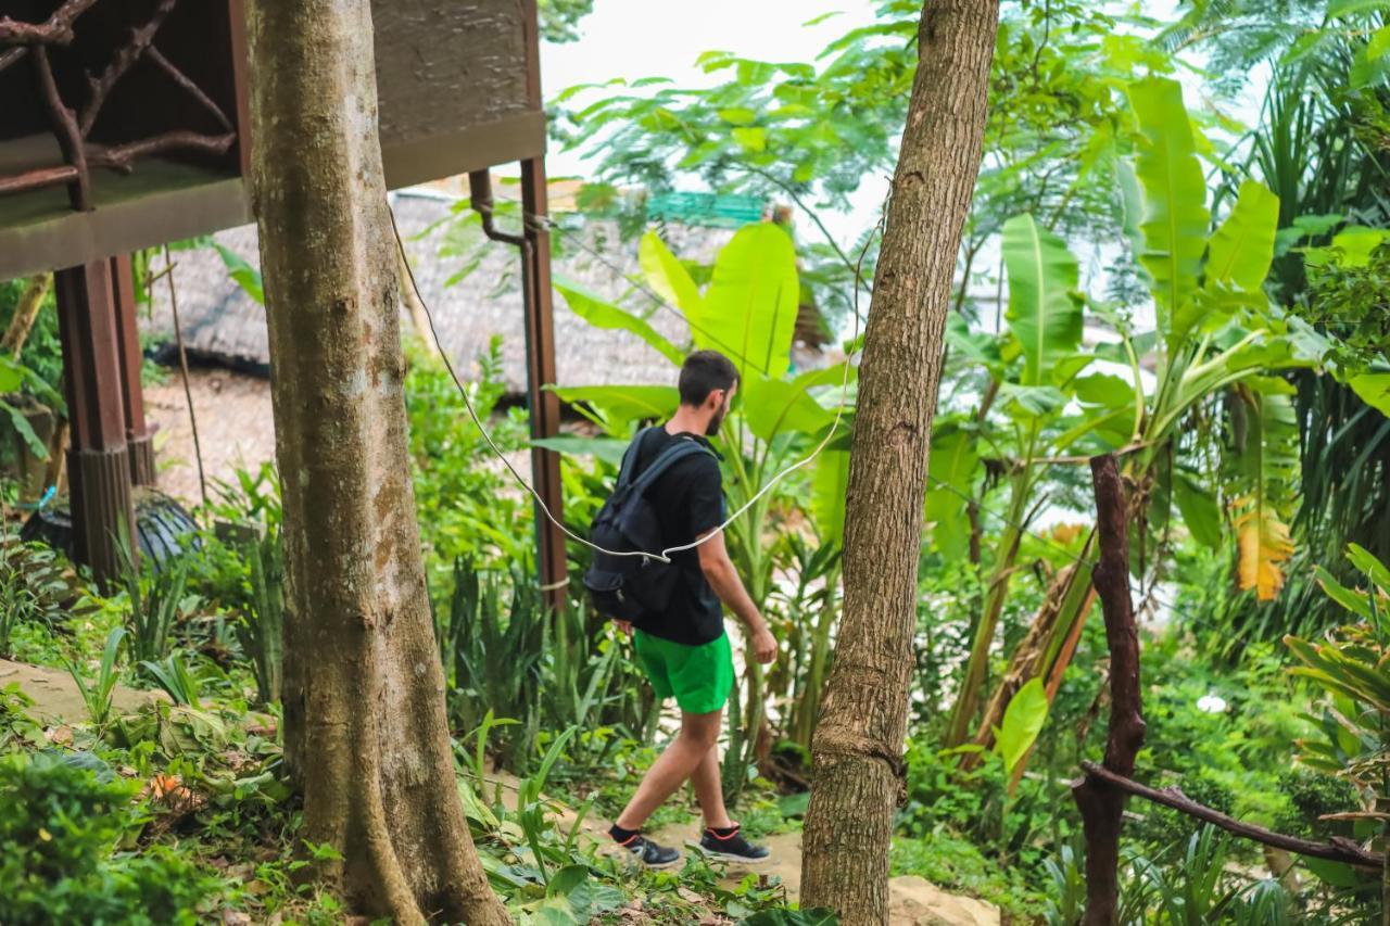
[[[474,224],[449,221],[457,200],[436,193],[403,192],[392,196],[396,222],[410,254],[416,281],[434,316],[441,346],[464,368],[502,336],[502,378],[507,391],[525,391],[525,334],[521,314],[520,256],[509,245],[488,242]],[[466,211],[457,216],[467,216]],[[514,224],[505,216],[499,225]],[[709,263],[733,235],[727,228],[667,224],[664,238],[685,260]],[[218,245],[256,267],[260,264],[254,225],[213,236]],[[677,345],[689,341],[684,318],[673,309],[653,304],[628,278],[641,278],[635,242],[623,242],[616,225],[592,222],[582,232],[557,241],[553,273],[628,309],[648,313],[649,324]],[[175,252],[175,285],[183,341],[189,350],[235,366],[265,368],[270,363],[264,309],[228,274],[211,247]],[[475,266],[474,266],[475,261]],[[460,271],[473,266],[459,279]],[[803,339],[815,341],[815,317],[799,325]],[[403,325],[409,317],[403,316]],[[153,317],[147,331],[172,339],[168,291],[154,288]],[[637,336],[594,328],[555,298],[556,367],[560,384],[669,382],[670,363]],[[798,350],[799,364],[815,363],[815,348]]]

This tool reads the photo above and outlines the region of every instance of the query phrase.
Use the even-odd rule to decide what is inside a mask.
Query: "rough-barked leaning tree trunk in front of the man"
[[[980,170],[998,0],[929,0],[859,370],[845,610],[812,747],[802,905],[888,922],[931,416]]]

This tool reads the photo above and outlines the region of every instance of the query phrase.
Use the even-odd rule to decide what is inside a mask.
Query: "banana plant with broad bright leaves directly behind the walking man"
[[[837,546],[841,541],[849,471],[849,445],[844,437],[831,441],[816,457],[809,487],[801,482],[809,491],[763,491],[771,480],[819,446],[837,419],[848,431],[855,368],[845,362],[821,370],[792,370],[791,346],[801,284],[792,241],[781,227],[759,222],[735,232],[716,256],[710,281],[703,289],[656,232],[642,236],[638,256],[646,286],[684,317],[689,334],[687,342],[674,343],[641,314],[567,281],[557,281],[556,289],[570,309],[589,324],[637,336],[670,360],[671,380],[687,348],[719,350],[738,367],[739,398],[720,439],[728,509],[739,512],[746,506],[746,510],[728,526],[727,535],[749,595],[759,608],[764,608],[774,587],[776,558],[766,537],[774,512],[799,506],[815,526],[820,545]],[[556,438],[543,445],[562,453],[598,453],[609,459],[620,452],[635,423],[669,417],[680,402],[676,388],[669,384],[564,384],[556,392],[599,424],[609,439]],[[828,640],[830,620],[819,619],[812,634],[792,634],[791,627],[777,627],[776,620],[770,623],[784,640],[809,640],[815,651],[828,651],[819,642]],[[815,662],[813,656],[808,659]],[[739,710],[741,723],[735,724],[741,729],[733,737],[737,748],[731,749],[727,762],[726,786],[731,798],[746,781],[744,770],[763,758],[758,751],[767,745],[767,737],[760,736],[766,723],[767,680],[755,663],[749,663],[746,672],[746,702]],[[792,684],[787,674],[776,676],[773,681],[780,690]]]

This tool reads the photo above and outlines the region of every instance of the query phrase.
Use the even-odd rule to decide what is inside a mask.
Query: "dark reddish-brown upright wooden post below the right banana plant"
[[[1125,485],[1113,455],[1091,460],[1095,487],[1095,530],[1099,558],[1091,583],[1105,615],[1111,649],[1111,727],[1105,767],[1120,777],[1134,773],[1134,756],[1144,745],[1144,715],[1138,683],[1138,630],[1129,590],[1129,524]],[[1072,784],[1086,833],[1087,926],[1109,926],[1119,909],[1120,816],[1126,793],[1095,776]]]

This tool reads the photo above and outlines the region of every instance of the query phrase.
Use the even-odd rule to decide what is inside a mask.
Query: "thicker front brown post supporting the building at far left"
[[[133,535],[135,526],[111,284],[110,260],[54,274],[72,428],[68,481],[76,534],[74,556],[103,583],[121,574],[117,537],[122,530]]]

